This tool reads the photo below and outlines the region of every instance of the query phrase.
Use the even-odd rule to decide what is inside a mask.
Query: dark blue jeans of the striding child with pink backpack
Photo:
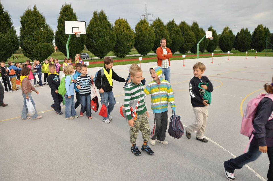
[[[251,143],[247,153],[225,161],[225,169],[226,171],[233,173],[235,169],[241,169],[245,164],[256,160],[261,153],[262,152],[259,151],[259,147]],[[268,181],[273,181],[273,146],[267,148],[267,155],[270,162],[267,172],[267,179]]]

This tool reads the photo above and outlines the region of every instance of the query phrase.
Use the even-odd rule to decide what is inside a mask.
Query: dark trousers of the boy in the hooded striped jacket
[[[168,111],[163,113],[154,113],[154,127],[151,131],[151,139],[164,141],[168,126]]]

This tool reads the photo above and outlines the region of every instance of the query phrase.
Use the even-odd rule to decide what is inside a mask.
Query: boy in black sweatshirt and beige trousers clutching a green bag
[[[201,94],[204,93],[203,89],[209,92],[213,91],[212,83],[210,82],[208,77],[203,76],[205,70],[206,66],[202,62],[198,62],[193,66],[194,77],[189,83],[189,91],[191,95],[191,104],[193,105],[193,111],[195,114],[195,122],[186,128],[186,136],[188,139],[191,138],[191,132],[197,131],[196,139],[204,143],[208,142],[208,140],[204,138],[204,132],[208,122],[209,104],[207,103],[208,100],[203,100],[203,96]],[[201,85],[200,87],[203,89],[199,89],[199,83],[208,84]]]

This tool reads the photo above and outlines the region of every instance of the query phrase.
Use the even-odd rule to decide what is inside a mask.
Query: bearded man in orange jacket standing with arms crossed
[[[170,82],[170,58],[173,56],[171,50],[166,47],[166,39],[160,40],[160,47],[156,49],[157,65],[162,69],[162,75],[164,74],[165,80]]]

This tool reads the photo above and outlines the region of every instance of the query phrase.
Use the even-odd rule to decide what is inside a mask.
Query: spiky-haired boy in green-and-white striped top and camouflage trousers
[[[140,130],[143,138],[141,150],[152,155],[154,151],[147,145],[150,139],[151,129],[148,121],[149,114],[144,101],[144,86],[141,83],[142,70],[137,64],[131,65],[130,77],[132,81],[125,87],[124,110],[130,126],[131,152],[136,156],[141,155],[141,152],[136,146],[138,130]],[[137,116],[132,117],[130,106]]]

